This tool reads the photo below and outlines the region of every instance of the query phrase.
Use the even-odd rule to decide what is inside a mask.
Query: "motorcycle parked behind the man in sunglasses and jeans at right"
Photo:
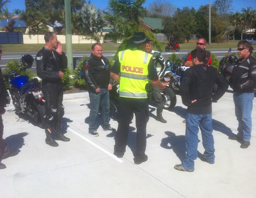
[[[237,57],[234,55],[230,55],[229,53],[231,52],[231,48],[229,48],[229,51],[225,57],[223,57],[220,62],[219,62],[219,69],[218,71],[220,72],[221,76],[226,79],[229,82],[229,79],[232,75],[232,71],[234,68],[234,65],[237,62]]]

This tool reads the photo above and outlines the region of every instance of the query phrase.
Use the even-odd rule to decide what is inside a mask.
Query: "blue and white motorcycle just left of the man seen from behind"
[[[185,59],[185,58],[186,58],[186,56],[184,56],[182,59]],[[185,70],[188,68],[189,67],[186,67],[183,65],[183,61],[182,61],[182,63],[179,63],[177,65],[175,65],[173,62],[171,63],[170,87],[176,94],[180,94],[180,83],[181,83],[181,80],[182,80]]]

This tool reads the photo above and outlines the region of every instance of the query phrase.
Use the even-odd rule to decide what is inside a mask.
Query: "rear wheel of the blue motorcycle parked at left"
[[[36,103],[36,101],[33,101],[31,104],[31,109],[33,110],[33,119],[38,123],[38,126],[40,128],[45,128],[44,123],[44,115],[45,115],[45,106],[43,103]]]

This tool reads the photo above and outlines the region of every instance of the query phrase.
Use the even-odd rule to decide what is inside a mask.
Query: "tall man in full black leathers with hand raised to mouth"
[[[45,98],[45,142],[50,146],[58,146],[55,140],[70,140],[61,133],[61,119],[64,115],[61,78],[64,74],[60,70],[67,68],[67,57],[62,52],[61,42],[57,40],[55,33],[47,32],[45,42],[45,47],[36,56],[37,75],[42,79],[42,92]],[[52,125],[55,130],[54,138]]]

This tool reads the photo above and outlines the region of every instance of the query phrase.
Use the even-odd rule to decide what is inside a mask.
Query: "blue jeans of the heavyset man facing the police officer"
[[[110,126],[109,121],[109,91],[100,88],[100,93],[89,92],[90,98],[90,114],[89,114],[89,132],[97,131],[97,117],[100,106],[103,112],[103,128]]]

